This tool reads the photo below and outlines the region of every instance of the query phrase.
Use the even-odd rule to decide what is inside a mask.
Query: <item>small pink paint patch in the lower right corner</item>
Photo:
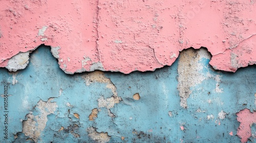
[[[237,113],[237,120],[240,122],[237,135],[241,138],[241,142],[247,142],[251,136],[250,126],[256,123],[256,112],[250,112],[249,109],[241,110]]]

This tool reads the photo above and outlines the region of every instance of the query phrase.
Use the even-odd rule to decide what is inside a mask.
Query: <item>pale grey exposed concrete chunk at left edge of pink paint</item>
[[[18,69],[24,69],[29,64],[29,52],[19,53],[13,56],[8,61],[6,68],[9,71],[17,71]]]

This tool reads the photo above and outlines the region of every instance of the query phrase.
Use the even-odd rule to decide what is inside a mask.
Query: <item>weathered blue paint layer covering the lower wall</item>
[[[202,66],[198,72],[205,79],[189,88],[183,108],[177,89],[178,60],[154,72],[67,75],[49,47],[41,46],[24,70],[10,73],[0,68],[0,94],[5,85],[9,94],[9,138],[4,139],[4,131],[0,138],[3,142],[240,142],[229,132],[237,132],[237,112],[256,110],[256,66],[231,74],[211,69],[208,62],[207,57],[198,61]],[[135,93],[139,100],[133,98]],[[4,114],[3,96],[0,103]],[[94,115],[91,121],[90,115]],[[4,120],[0,116],[1,129]]]

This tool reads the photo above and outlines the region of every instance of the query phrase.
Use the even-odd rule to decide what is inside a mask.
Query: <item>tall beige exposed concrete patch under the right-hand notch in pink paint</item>
[[[189,89],[205,80],[201,70],[203,65],[200,63],[202,58],[210,59],[210,54],[205,49],[187,49],[180,53],[178,64],[178,90],[180,95],[180,106],[187,108],[187,98],[191,93]]]

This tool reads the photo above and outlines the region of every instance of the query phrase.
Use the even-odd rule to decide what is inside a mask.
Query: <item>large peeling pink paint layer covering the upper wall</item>
[[[172,65],[183,49],[201,46],[215,69],[256,63],[253,1],[2,0],[1,6],[2,67],[40,44],[60,46],[59,65],[70,74],[94,70],[94,63],[125,74],[155,70]]]

